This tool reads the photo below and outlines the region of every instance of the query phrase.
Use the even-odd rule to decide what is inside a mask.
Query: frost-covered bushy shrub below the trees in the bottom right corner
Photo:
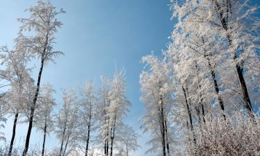
[[[227,117],[227,121],[207,117],[195,128],[194,135],[196,140],[187,144],[184,155],[260,155],[259,117],[255,121],[242,113]]]

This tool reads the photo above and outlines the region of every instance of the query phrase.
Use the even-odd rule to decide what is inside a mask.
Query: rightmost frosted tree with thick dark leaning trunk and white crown
[[[202,4],[205,4],[202,1]],[[221,0],[209,1],[206,4],[211,13],[208,19],[215,21],[220,30],[220,35],[226,37],[226,42],[229,44],[229,53],[231,53],[234,60],[234,66],[239,83],[241,85],[241,92],[245,107],[251,119],[254,119],[252,110],[252,103],[248,92],[248,83],[246,83],[243,71],[251,70],[252,62],[259,62],[257,49],[259,49],[259,18],[254,16],[257,6],[250,6],[249,1],[234,1],[234,0]],[[257,64],[259,66],[259,63]],[[255,76],[258,73],[252,73]]]

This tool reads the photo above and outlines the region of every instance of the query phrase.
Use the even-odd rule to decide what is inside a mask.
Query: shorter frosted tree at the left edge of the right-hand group
[[[142,120],[144,132],[151,132],[151,145],[147,153],[155,155],[171,155],[171,128],[168,114],[171,112],[171,93],[173,86],[163,60],[154,55],[142,58],[146,69],[140,75],[141,101],[146,105],[146,113]],[[158,152],[162,148],[162,152]]]

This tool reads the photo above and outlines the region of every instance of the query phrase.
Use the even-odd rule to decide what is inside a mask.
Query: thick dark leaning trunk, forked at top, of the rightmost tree
[[[223,14],[223,10],[221,10],[217,1],[215,1],[215,4],[216,4],[215,8],[216,8],[217,12],[219,13],[219,18],[220,18],[222,27],[224,28],[225,31],[228,31],[228,19],[230,17],[229,14],[231,14],[231,2],[229,0],[227,0],[227,12],[225,13],[225,17]],[[230,33],[227,33],[227,40],[229,42],[230,48],[233,49],[234,46],[233,46],[233,41],[232,41],[232,35]],[[234,61],[236,61],[236,58],[237,58],[236,51],[233,51]],[[239,63],[236,63],[236,73],[239,76],[239,82],[240,82],[241,90],[243,93],[243,100],[245,101],[245,107],[248,110],[250,119],[252,121],[254,121],[254,112],[252,110],[252,105],[251,105],[250,97],[248,94],[248,88],[245,84],[245,79],[243,76],[243,68],[239,65]]]

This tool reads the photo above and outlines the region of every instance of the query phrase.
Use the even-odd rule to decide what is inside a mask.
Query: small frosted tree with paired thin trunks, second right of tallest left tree
[[[55,125],[58,139],[60,140],[59,156],[65,156],[76,148],[78,133],[78,101],[73,89],[65,89],[63,92],[63,105],[58,114],[58,121]],[[68,148],[71,149],[68,150]]]

